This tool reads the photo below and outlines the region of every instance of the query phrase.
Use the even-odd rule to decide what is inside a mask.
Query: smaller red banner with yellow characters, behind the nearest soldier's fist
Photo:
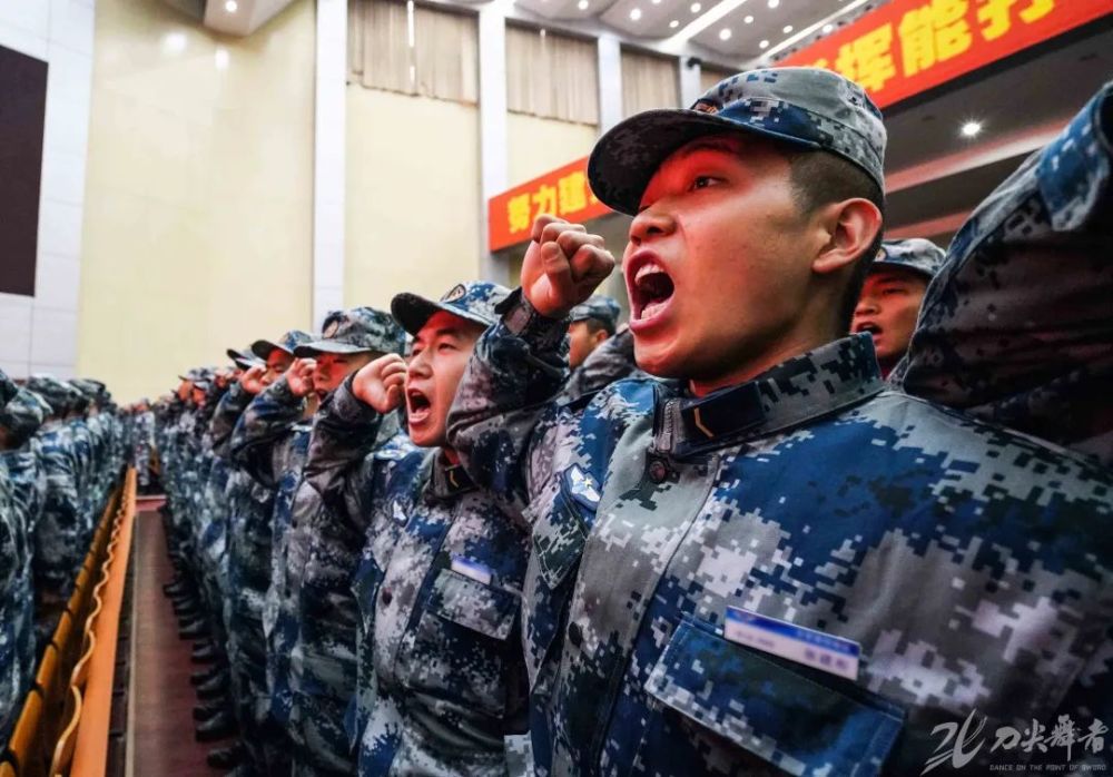
[[[487,201],[491,250],[528,240],[533,219],[542,213],[570,222],[585,222],[611,213],[588,186],[588,157],[492,197]]]

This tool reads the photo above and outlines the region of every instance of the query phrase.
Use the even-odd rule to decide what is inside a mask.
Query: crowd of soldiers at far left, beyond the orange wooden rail
[[[99,381],[0,372],[0,741],[150,420],[117,406]]]

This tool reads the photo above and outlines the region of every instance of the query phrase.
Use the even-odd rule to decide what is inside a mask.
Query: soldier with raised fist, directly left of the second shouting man
[[[316,492],[302,479],[313,413],[347,375],[392,347],[394,330],[390,316],[368,307],[331,313],[322,337],[295,348],[297,361],[255,397],[233,433],[233,460],[276,490],[263,628],[270,716],[285,731],[294,774],[353,768],[342,720],[348,699],[335,699],[327,687],[318,686],[315,670],[298,650],[301,581],[322,509]]]

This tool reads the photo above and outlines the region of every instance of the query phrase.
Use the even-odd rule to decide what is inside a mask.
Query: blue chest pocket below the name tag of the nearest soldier
[[[801,670],[684,621],[646,690],[697,730],[707,729],[789,774],[880,774],[904,710],[853,682]],[[644,748],[659,746],[646,742]],[[653,763],[650,751],[639,757]]]

